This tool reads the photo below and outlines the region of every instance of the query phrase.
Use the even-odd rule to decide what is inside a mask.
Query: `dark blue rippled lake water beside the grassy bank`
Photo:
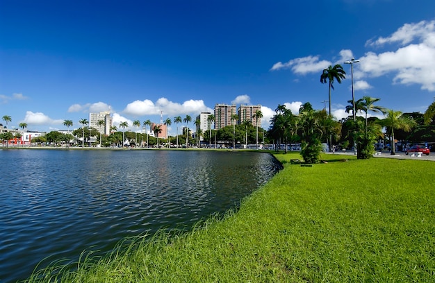
[[[267,153],[0,150],[0,282],[125,237],[189,229],[281,169]]]

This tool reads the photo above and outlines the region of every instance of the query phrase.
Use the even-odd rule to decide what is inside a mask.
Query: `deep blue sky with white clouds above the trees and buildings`
[[[79,128],[110,110],[115,125],[213,111],[215,103],[322,109],[322,69],[341,64],[331,107],[352,98],[424,112],[435,96],[433,0],[0,0],[0,117],[9,128]],[[0,121],[4,124],[3,121]],[[175,127],[172,135],[175,132]],[[133,130],[133,127],[131,128]]]

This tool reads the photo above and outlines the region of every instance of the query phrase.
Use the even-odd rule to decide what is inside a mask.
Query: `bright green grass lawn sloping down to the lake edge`
[[[236,214],[85,261],[62,281],[435,282],[435,162],[276,156],[284,170]]]

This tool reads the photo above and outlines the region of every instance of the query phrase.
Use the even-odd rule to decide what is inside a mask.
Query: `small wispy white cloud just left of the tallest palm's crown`
[[[286,63],[277,62],[275,63],[270,71],[277,71],[279,69],[291,69],[295,74],[309,74],[322,71],[322,69],[327,68],[332,63],[327,60],[319,61],[319,56],[307,56],[303,58],[295,58]]]

